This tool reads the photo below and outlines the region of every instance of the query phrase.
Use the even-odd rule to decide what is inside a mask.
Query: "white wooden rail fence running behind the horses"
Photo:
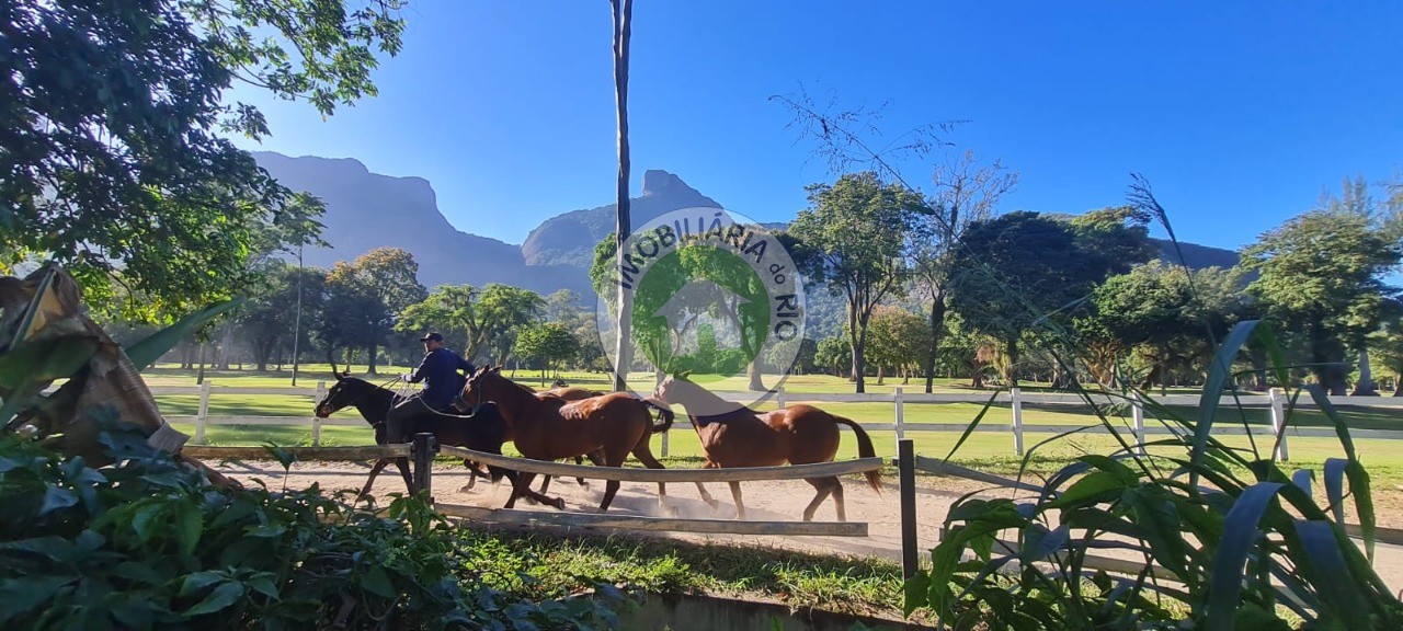
[[[210,381],[205,381],[202,386],[161,386],[153,387],[153,394],[182,394],[199,395],[199,412],[195,416],[167,416],[171,422],[189,422],[195,423],[195,436],[192,439],[194,445],[205,443],[205,430],[209,425],[285,425],[285,426],[311,426],[311,445],[321,445],[321,428],[325,425],[340,425],[340,426],[365,426],[365,421],[359,418],[328,418],[320,419],[316,416],[210,416],[209,415],[209,398],[212,395],[293,395],[293,397],[307,397],[307,411],[310,412],[318,401],[327,395],[325,381],[317,381],[316,388],[290,388],[290,387],[272,387],[272,388],[246,388],[246,387],[219,387],[213,386]],[[717,393],[723,398],[731,401],[751,401],[755,393]],[[1047,423],[1028,423],[1023,422],[1023,407],[1024,405],[1096,405],[1099,408],[1111,408],[1110,414],[1124,415],[1129,412],[1129,423],[1127,430],[1135,435],[1136,443],[1143,446],[1146,436],[1163,436],[1176,433],[1174,428],[1167,425],[1146,425],[1145,423],[1145,402],[1138,400],[1127,400],[1120,395],[1110,394],[1072,394],[1072,393],[1024,393],[1019,388],[1010,388],[1006,391],[993,393],[940,393],[940,394],[925,394],[925,393],[905,393],[902,387],[892,388],[891,393],[866,393],[866,394],[810,394],[810,393],[786,393],[784,388],[776,390],[770,398],[779,407],[786,407],[793,402],[885,402],[892,405],[892,421],[887,422],[864,422],[859,423],[863,429],[870,432],[895,432],[895,445],[906,437],[906,432],[964,432],[968,423],[925,423],[925,422],[908,422],[908,416],[919,418],[920,407],[929,404],[954,404],[954,402],[971,402],[971,404],[985,404],[991,400],[995,405],[1003,411],[1006,408],[1007,422],[993,422],[993,418],[984,421],[975,429],[976,432],[998,432],[1012,435],[1013,453],[1023,456],[1024,452],[1024,435],[1026,433],[1065,433],[1082,430],[1083,433],[1107,433],[1107,428],[1103,425],[1080,423],[1080,425],[1047,425]],[[1233,405],[1243,405],[1249,408],[1268,408],[1271,416],[1271,425],[1254,425],[1251,432],[1261,436],[1274,436],[1281,430],[1281,425],[1285,422],[1285,408],[1287,395],[1280,388],[1273,388],[1266,394],[1250,393],[1250,394],[1233,394],[1228,393],[1223,395],[1219,411],[1219,422],[1214,426],[1214,435],[1216,436],[1232,436],[1244,435],[1246,428],[1242,423],[1232,421]],[[1364,408],[1383,408],[1392,409],[1399,414],[1399,429],[1351,429],[1351,436],[1357,439],[1383,439],[1383,440],[1403,440],[1403,397],[1333,397],[1330,400],[1334,405],[1352,405]],[[1200,402],[1197,394],[1169,394],[1163,397],[1156,397],[1149,405],[1167,405],[1167,407],[1195,407]],[[1310,408],[1315,402],[1308,395],[1302,395],[1296,400],[1296,408]],[[1127,409],[1128,408],[1128,409]],[[915,414],[912,414],[915,412]],[[991,411],[993,414],[993,411]],[[673,430],[692,430],[690,423],[686,418],[679,418],[676,423],[672,425]],[[1281,449],[1277,454],[1281,460],[1289,459],[1288,439],[1287,437],[1331,437],[1334,436],[1334,429],[1331,428],[1291,428],[1284,433],[1281,440]],[[1143,447],[1142,447],[1143,449]],[[668,454],[668,435],[662,435],[662,456]]]

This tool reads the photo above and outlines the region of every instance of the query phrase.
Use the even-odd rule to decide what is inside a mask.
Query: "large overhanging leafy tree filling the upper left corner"
[[[258,224],[306,206],[220,132],[261,137],[224,105],[243,80],[318,111],[375,94],[375,50],[400,48],[398,3],[25,1],[0,7],[0,266],[52,259],[157,318],[246,283]],[[95,304],[105,304],[97,300]]]

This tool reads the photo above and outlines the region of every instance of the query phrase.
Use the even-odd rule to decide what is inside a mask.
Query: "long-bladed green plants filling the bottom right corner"
[[[1148,414],[1177,430],[1155,442],[1152,456],[1099,409],[1121,449],[1076,459],[1031,499],[955,502],[932,569],[906,582],[908,611],[926,607],[954,628],[991,630],[1295,628],[1284,611],[1302,628],[1403,625],[1403,603],[1371,565],[1369,478],[1322,390],[1310,395],[1345,453],[1326,461],[1324,505],[1309,492],[1308,473],[1271,457],[1273,445],[1242,450],[1214,437],[1218,398],[1233,377],[1225,366],[1249,339],[1280,359],[1266,325],[1235,327],[1197,418],[1135,393]],[[1344,531],[1344,502],[1361,520],[1365,551]],[[1096,569],[1096,550],[1131,551],[1143,569],[1108,575]]]

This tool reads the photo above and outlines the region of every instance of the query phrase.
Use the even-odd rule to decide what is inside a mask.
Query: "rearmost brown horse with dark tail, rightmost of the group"
[[[734,408],[734,404],[728,404],[702,386],[676,377],[662,380],[654,395],[668,404],[686,405],[687,416],[692,419],[692,426],[696,428],[706,453],[703,468],[831,463],[838,454],[839,423],[853,428],[853,433],[857,435],[859,456],[864,459],[877,456],[871,437],[867,436],[861,425],[812,405],[790,405],[773,412],[739,408],[711,416],[699,416],[693,415],[692,411],[721,411]],[[502,414],[505,415],[505,409]],[[804,478],[804,481],[818,489],[818,495],[804,509],[805,522],[814,520],[818,505],[829,495],[833,496],[833,505],[838,508],[838,520],[847,520],[847,515],[843,512],[843,484],[838,477]],[[880,482],[881,475],[877,471],[867,471],[867,484],[877,492],[881,492]],[[731,495],[735,498],[735,519],[745,519],[741,482],[730,484]],[[706,503],[713,509],[718,506],[702,482],[697,482],[697,489],[702,491],[702,499]]]

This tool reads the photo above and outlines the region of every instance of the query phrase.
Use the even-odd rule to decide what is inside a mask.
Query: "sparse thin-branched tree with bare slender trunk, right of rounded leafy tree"
[[[936,167],[932,179],[936,185],[930,199],[933,212],[911,233],[912,276],[930,311],[925,358],[927,393],[934,383],[940,335],[946,330],[951,264],[962,247],[965,230],[993,216],[999,199],[1017,186],[1019,174],[1006,171],[999,161],[978,165],[974,151],[965,151],[958,161]]]

